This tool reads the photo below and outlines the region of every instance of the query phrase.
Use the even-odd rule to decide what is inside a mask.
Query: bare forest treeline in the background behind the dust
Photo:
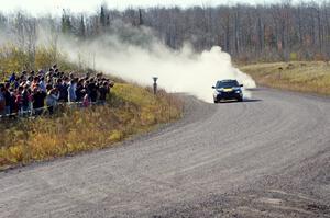
[[[15,25],[20,31],[20,19],[22,14],[14,19],[2,15],[0,27]],[[151,27],[162,42],[174,49],[179,49],[185,42],[190,42],[198,51],[218,45],[241,61],[328,60],[330,57],[330,1],[125,11],[102,5],[92,15],[64,10],[61,20],[30,19],[33,22],[45,20],[53,24],[54,30],[81,38],[113,32],[111,26],[120,20],[136,28]],[[25,28],[33,32],[33,26],[26,25]]]

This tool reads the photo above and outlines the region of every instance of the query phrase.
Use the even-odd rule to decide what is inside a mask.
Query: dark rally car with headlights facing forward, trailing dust
[[[237,80],[221,80],[218,81],[213,93],[215,103],[219,103],[222,100],[237,100],[243,101],[243,84],[239,84]]]

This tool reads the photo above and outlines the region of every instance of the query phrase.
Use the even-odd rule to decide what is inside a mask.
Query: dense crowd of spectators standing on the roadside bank
[[[112,87],[102,73],[81,77],[62,72],[56,65],[47,71],[13,72],[0,83],[0,116],[53,114],[58,103],[105,104]]]

